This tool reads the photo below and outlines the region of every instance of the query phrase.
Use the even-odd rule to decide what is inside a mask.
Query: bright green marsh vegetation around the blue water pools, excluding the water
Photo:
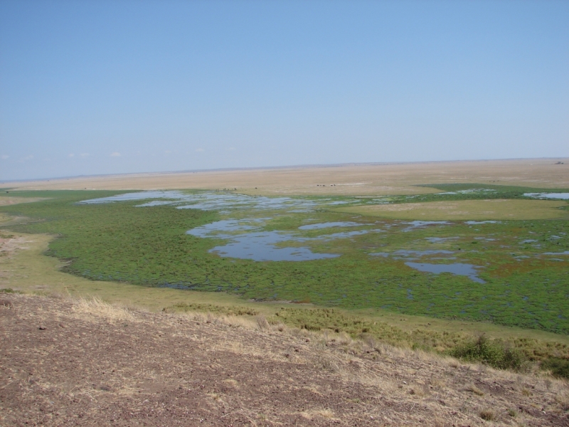
[[[536,189],[514,191],[508,187],[506,190],[496,191],[501,193],[499,198],[510,193],[518,198],[520,193]],[[308,212],[242,209],[225,214],[171,206],[134,208],[140,201],[76,204],[80,200],[119,193],[10,191],[10,196],[49,199],[1,206],[0,212],[26,218],[5,226],[10,230],[58,236],[50,244],[48,255],[67,260],[64,270],[68,273],[91,280],[225,291],[255,300],[312,302],[324,307],[384,308],[408,315],[485,320],[500,325],[569,332],[568,257],[542,255],[569,250],[565,220],[474,225],[457,221],[443,226],[410,228],[401,221],[376,223],[376,218],[354,218],[353,214],[334,212],[326,206]],[[477,192],[425,194],[415,199],[424,201],[425,197],[447,196],[476,199]],[[409,203],[408,196],[400,197]],[[325,199],[368,203],[368,199],[361,198]],[[224,218],[253,217],[270,218],[264,224],[266,231],[294,231],[307,238],[326,236],[331,231],[299,231],[299,226],[326,221],[359,221],[369,224],[360,229],[381,228],[382,231],[334,240],[280,243],[341,255],[303,262],[223,258],[208,251],[227,243],[226,240],[185,233]],[[427,240],[429,238],[440,241],[433,243]],[[452,251],[453,263],[479,266],[478,276],[485,283],[474,283],[463,275],[422,273],[405,265],[406,259],[392,256],[401,250]],[[369,255],[378,252],[387,255]],[[441,261],[440,255],[433,253],[422,257],[420,262],[449,261]],[[429,345],[437,347],[432,342]]]

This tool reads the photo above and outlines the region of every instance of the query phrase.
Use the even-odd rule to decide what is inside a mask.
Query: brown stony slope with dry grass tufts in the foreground
[[[0,294],[0,426],[569,426],[564,381],[244,322]]]

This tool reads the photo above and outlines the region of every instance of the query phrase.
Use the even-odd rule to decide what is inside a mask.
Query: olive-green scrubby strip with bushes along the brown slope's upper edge
[[[164,308],[165,312],[212,312],[218,315],[259,315],[250,307],[220,306],[213,304],[176,304]],[[280,307],[275,315],[267,317],[271,325],[284,324],[288,327],[314,332],[349,334],[353,339],[366,342],[384,342],[395,347],[422,349],[427,352],[449,354],[452,357],[480,362],[497,369],[519,370],[526,362],[541,362],[543,369],[549,369],[556,376],[568,373],[569,345],[543,339],[509,337],[490,339],[472,334],[440,328],[416,327],[403,329],[378,317],[353,314],[331,308]]]

